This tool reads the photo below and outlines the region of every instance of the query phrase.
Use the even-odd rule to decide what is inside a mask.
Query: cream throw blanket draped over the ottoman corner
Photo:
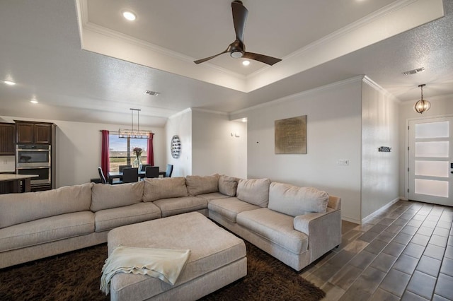
[[[188,249],[117,247],[102,268],[101,290],[105,295],[110,293],[110,280],[115,273],[149,275],[174,285],[189,256]]]

